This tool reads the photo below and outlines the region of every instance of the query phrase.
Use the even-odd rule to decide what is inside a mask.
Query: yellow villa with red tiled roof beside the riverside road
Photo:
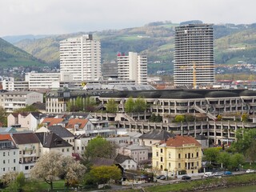
[[[168,138],[152,146],[152,166],[174,175],[181,170],[197,174],[202,166],[202,146],[190,136]]]

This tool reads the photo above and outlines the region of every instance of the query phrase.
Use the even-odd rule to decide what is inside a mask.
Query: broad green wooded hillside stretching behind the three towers
[[[146,54],[149,61],[149,74],[157,70],[173,70],[174,27],[171,22],[152,22],[145,26],[123,30],[103,30],[90,32],[102,43],[102,62],[116,59],[118,51],[135,51]],[[22,40],[15,43],[22,50],[50,64],[58,65],[59,42],[75,37],[76,33],[54,35],[46,38]],[[244,61],[256,63],[256,24],[214,25],[215,62],[237,63]]]

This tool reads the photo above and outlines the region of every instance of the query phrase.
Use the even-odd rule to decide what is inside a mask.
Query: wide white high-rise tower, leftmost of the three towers
[[[92,34],[60,42],[60,70],[73,74],[74,81],[102,77],[101,43]]]

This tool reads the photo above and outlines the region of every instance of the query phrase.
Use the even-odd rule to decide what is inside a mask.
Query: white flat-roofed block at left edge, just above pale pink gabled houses
[[[16,109],[30,106],[34,102],[42,102],[42,94],[33,91],[8,91],[0,93],[0,106],[7,113],[11,113]]]

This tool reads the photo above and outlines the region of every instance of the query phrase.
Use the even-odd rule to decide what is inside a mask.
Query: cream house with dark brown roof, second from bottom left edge
[[[12,134],[14,144],[19,150],[19,171],[22,171],[26,177],[39,158],[39,140],[34,133],[15,133]]]

